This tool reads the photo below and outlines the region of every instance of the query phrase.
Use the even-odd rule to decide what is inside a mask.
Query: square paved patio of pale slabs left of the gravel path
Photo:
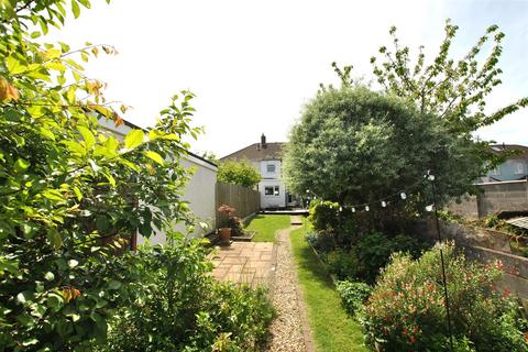
[[[212,275],[223,282],[257,286],[270,284],[276,266],[272,242],[233,242],[217,246],[211,254]]]

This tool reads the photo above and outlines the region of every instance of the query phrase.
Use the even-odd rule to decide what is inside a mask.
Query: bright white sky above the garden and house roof
[[[411,53],[425,45],[433,57],[447,18],[460,26],[454,58],[491,24],[506,34],[503,85],[490,111],[528,96],[528,0],[92,0],[44,40],[113,45],[119,55],[90,61],[87,74],[108,84],[108,100],[132,106],[124,118],[140,127],[153,125],[174,94],[191,90],[194,124],[206,131],[191,151],[224,156],[262,133],[287,141],[319,84],[338,82],[332,62],[372,79],[369,59],[391,44],[391,25]],[[528,109],[477,134],[528,145]]]

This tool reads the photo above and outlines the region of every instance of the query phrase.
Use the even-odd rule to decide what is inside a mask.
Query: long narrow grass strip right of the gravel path
[[[369,351],[360,324],[341,307],[328,273],[305,240],[304,229],[293,231],[290,239],[317,351]]]

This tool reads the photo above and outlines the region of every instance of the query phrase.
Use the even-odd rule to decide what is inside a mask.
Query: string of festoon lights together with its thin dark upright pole
[[[436,228],[437,228],[437,235],[438,235],[439,243],[441,243],[442,242],[442,237],[441,237],[441,232],[440,232],[440,223],[439,223],[439,220],[438,220],[437,190],[436,190],[436,182],[435,182],[436,178],[435,178],[435,175],[432,175],[430,170],[427,170],[427,173],[425,173],[424,178],[426,178],[427,180],[430,182],[431,190],[432,190],[432,200],[433,200],[432,205],[429,205],[429,206],[426,207],[426,211],[431,212],[432,210],[435,210],[435,221],[436,221]],[[352,212],[355,213],[358,211],[371,211],[371,206],[375,206],[375,205],[378,205],[382,208],[387,208],[389,204],[395,201],[394,200],[395,198],[398,199],[398,200],[400,199],[400,200],[405,201],[407,199],[407,195],[409,194],[409,191],[411,189],[414,189],[415,187],[418,187],[422,183],[424,183],[424,179],[419,179],[416,183],[414,183],[413,185],[410,185],[408,187],[405,187],[405,188],[402,188],[399,191],[397,191],[395,194],[388,195],[386,197],[383,197],[383,198],[380,198],[377,200],[373,200],[373,201],[370,201],[370,202],[358,204],[358,205],[339,205],[337,210],[339,212],[342,212],[343,209],[350,209]],[[319,199],[321,199],[321,201],[324,201],[322,198],[318,197],[316,194],[314,194],[309,189],[307,189],[306,193],[314,195],[315,200],[317,200],[319,198]],[[442,268],[442,284],[443,284],[443,295],[444,295],[444,299],[446,299],[446,314],[447,314],[446,319],[447,319],[447,323],[448,323],[449,341],[450,341],[450,344],[451,344],[451,351],[454,351],[453,333],[452,333],[452,327],[451,327],[451,315],[450,315],[450,309],[449,309],[448,279],[447,279],[447,276],[446,276],[446,263],[444,263],[444,258],[443,258],[442,246],[440,246],[440,264],[441,264],[441,268]]]

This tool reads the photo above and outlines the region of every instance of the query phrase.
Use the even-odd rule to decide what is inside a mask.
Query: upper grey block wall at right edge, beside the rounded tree
[[[476,186],[481,193],[462,199],[460,204],[453,202],[447,209],[468,219],[484,218],[501,211],[528,211],[526,179]]]

